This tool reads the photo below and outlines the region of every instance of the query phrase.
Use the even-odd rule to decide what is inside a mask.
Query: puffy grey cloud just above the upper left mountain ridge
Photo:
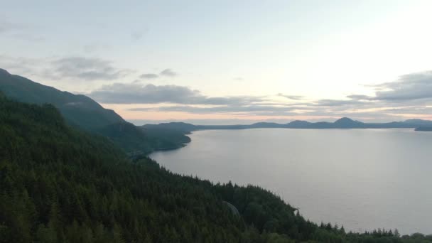
[[[99,58],[70,57],[51,62],[55,77],[71,77],[79,80],[117,80],[131,70],[115,68],[112,62]]]

